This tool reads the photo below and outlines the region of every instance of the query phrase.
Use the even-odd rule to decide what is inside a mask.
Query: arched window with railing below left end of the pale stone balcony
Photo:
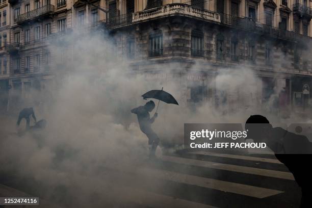
[[[154,30],[148,35],[148,54],[150,57],[163,55],[163,32]]]

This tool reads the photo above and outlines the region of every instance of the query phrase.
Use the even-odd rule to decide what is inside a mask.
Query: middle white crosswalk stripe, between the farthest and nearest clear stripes
[[[185,165],[195,165],[195,166],[214,168],[214,169],[219,169],[219,170],[227,170],[227,171],[241,172],[241,173],[247,173],[247,174],[295,180],[293,174],[289,172],[283,172],[283,171],[267,170],[267,169],[261,169],[261,168],[251,168],[251,167],[245,167],[245,166],[215,163],[215,162],[210,162],[210,161],[194,160],[194,159],[187,159],[187,158],[178,158],[178,157],[173,157],[173,156],[168,156],[168,155],[163,155],[162,160],[167,161],[167,162],[185,164]]]

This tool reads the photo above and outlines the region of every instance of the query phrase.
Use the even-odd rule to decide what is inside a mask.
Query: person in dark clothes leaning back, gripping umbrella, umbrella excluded
[[[155,157],[155,150],[159,144],[159,137],[151,128],[151,124],[154,122],[155,118],[157,118],[158,114],[155,113],[152,118],[149,116],[149,112],[151,112],[154,108],[155,103],[153,101],[148,101],[144,106],[139,106],[138,108],[131,110],[131,113],[137,114],[140,129],[148,138],[150,158]]]

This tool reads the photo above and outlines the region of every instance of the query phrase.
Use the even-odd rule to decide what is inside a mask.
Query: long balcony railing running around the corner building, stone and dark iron
[[[259,34],[265,34],[280,39],[294,40],[296,38],[300,38],[298,34],[295,34],[294,32],[282,30],[279,28],[272,27],[271,25],[256,22],[249,17],[238,17],[231,16],[228,14],[219,14],[208,10],[194,8],[188,4],[180,4],[180,3],[168,4],[160,8],[140,11],[133,14],[111,17],[108,18],[108,21],[105,24],[107,25],[108,28],[112,28],[118,25],[136,23],[139,21],[146,21],[149,19],[168,15],[183,15],[197,17],[204,20],[225,24],[228,25],[229,27],[239,28],[250,32],[256,32]]]

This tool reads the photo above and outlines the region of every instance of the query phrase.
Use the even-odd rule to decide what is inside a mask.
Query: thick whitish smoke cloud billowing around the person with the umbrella
[[[66,204],[62,194],[74,198],[96,190],[101,193],[102,189],[92,189],[92,183],[80,181],[82,175],[86,180],[103,177],[105,184],[110,177],[98,176],[99,167],[135,169],[142,165],[147,159],[147,138],[130,110],[145,104],[141,95],[149,90],[164,87],[180,103],[160,102],[159,117],[153,124],[161,142],[173,148],[183,144],[184,123],[243,123],[251,114],[262,113],[258,108],[259,80],[249,69],[224,69],[216,77],[217,90],[230,90],[232,102],[240,101],[238,109],[216,109],[211,100],[193,111],[181,100],[181,80],[171,79],[170,74],[166,79],[146,79],[100,35],[79,35],[68,37],[70,47],[66,47],[71,50],[67,49],[67,61],[53,69],[55,84],[46,86],[53,92],[42,96],[41,105],[47,107],[35,106],[37,119],[47,120],[46,128],[17,135],[12,127],[14,118],[10,118],[6,120],[9,130],[4,133],[2,129],[2,171],[16,173],[16,180],[27,177],[37,181],[47,200],[57,198]],[[77,37],[79,41],[74,41]],[[60,45],[50,49],[52,54],[64,54]],[[74,205],[86,207],[89,202],[88,197],[80,198]]]

